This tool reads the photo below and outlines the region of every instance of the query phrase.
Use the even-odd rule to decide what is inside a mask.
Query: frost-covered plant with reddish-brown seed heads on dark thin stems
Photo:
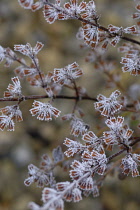
[[[79,202],[90,194],[93,197],[99,196],[106,176],[116,166],[112,165],[111,161],[115,157],[119,158],[121,154],[123,154],[119,162],[121,173],[124,176],[129,174],[132,177],[139,176],[140,154],[137,151],[140,134],[137,134],[140,133],[140,124],[138,123],[132,130],[127,123],[131,119],[125,119],[122,113],[132,112],[139,120],[140,101],[139,98],[127,101],[127,94],[122,96],[121,78],[112,73],[112,63],[104,59],[104,54],[109,47],[116,47],[116,53],[123,54],[120,60],[122,71],[132,77],[140,77],[140,2],[135,1],[136,12],[132,15],[136,24],[125,28],[112,24],[108,27],[100,25],[100,15],[96,11],[94,1],[70,0],[64,3],[60,0],[19,0],[18,2],[21,7],[33,12],[43,10],[45,20],[49,24],[69,19],[81,22],[76,38],[81,40],[81,49],[89,50],[86,61],[93,63],[95,69],[108,76],[110,88],[116,87],[110,96],[99,94],[97,97],[91,97],[84,87],[77,86],[77,79],[84,77],[84,74],[76,61],[63,68],[54,68],[54,71],[45,74],[40,68],[38,59],[38,53],[44,47],[40,41],[37,41],[34,47],[29,43],[15,45],[14,51],[0,46],[0,61],[5,60],[5,66],[9,67],[13,62],[19,64],[14,70],[15,77],[11,78],[12,82],[4,92],[4,97],[0,98],[0,101],[7,103],[15,101],[15,105],[0,109],[0,130],[15,130],[15,123],[23,120],[20,104],[27,100],[33,101],[30,113],[40,121],[49,122],[58,117],[63,121],[70,121],[71,137],[66,137],[64,140],[64,145],[67,147],[64,153],[58,146],[53,150],[52,158],[47,154],[42,156],[40,167],[30,164],[29,177],[24,182],[26,186],[35,182],[38,187],[43,188],[42,206],[31,202],[30,209],[61,210],[64,209],[65,201]],[[16,52],[19,52],[21,57]],[[30,64],[27,64],[26,57],[30,59]],[[20,82],[23,79],[31,86],[42,88],[44,95],[24,95],[24,87],[21,87]],[[73,89],[75,94],[64,95],[62,93],[64,88]],[[140,91],[140,86],[138,90]],[[46,99],[46,102],[40,99]],[[62,110],[53,105],[57,99],[73,100],[73,110],[71,112],[67,110],[67,114],[61,116]],[[94,102],[93,108],[100,114],[98,116],[105,127],[101,135],[97,136],[84,121],[84,110],[81,111],[78,106],[81,100],[85,103],[87,100]],[[107,151],[111,151],[111,155],[107,155]],[[53,173],[54,168],[60,164],[64,168],[63,163],[70,158],[72,158],[69,168],[71,181],[57,182]]]

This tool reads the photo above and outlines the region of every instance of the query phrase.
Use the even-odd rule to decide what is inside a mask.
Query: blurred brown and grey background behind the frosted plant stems
[[[95,3],[98,14],[101,15],[101,25],[107,27],[109,24],[114,24],[127,27],[135,24],[131,18],[135,12],[132,0],[98,0]],[[76,61],[84,71],[84,76],[78,80],[77,85],[84,86],[91,97],[96,97],[99,93],[109,96],[114,88],[105,88],[106,75],[95,70],[92,63],[85,61],[88,51],[81,49],[81,42],[76,39],[79,27],[80,23],[76,20],[56,21],[49,25],[41,10],[33,13],[21,8],[18,0],[0,0],[0,45],[13,49],[14,44],[30,43],[35,46],[36,42],[40,41],[44,43],[44,48],[38,56],[43,72],[47,73]],[[110,47],[105,56],[108,61],[116,62],[115,71],[121,76],[123,94],[127,94],[130,100],[132,95],[135,98],[137,94],[135,86],[138,87],[140,80],[122,73],[120,65],[122,55],[117,52],[117,48]],[[15,76],[13,70],[18,66],[14,63],[10,68],[6,68],[3,64],[0,65],[0,97],[3,97],[3,92],[11,83],[11,77]],[[42,94],[42,90],[30,87],[25,81],[21,81],[21,84],[25,95]],[[73,91],[63,93],[75,94]],[[0,210],[27,210],[29,201],[41,204],[41,189],[35,185],[24,186],[24,180],[28,177],[27,166],[30,163],[39,166],[41,156],[44,153],[51,156],[53,148],[58,145],[61,145],[65,151],[63,140],[65,137],[71,137],[69,123],[62,122],[60,118],[49,123],[33,118],[29,112],[32,103],[31,100],[21,103],[24,121],[16,124],[15,132],[0,133]],[[11,104],[14,103],[1,102],[0,108]],[[61,116],[70,113],[73,105],[73,101],[54,101],[54,106],[62,111]],[[101,121],[94,110],[93,102],[81,101],[79,107],[85,112],[84,121],[90,125],[90,130],[97,134],[102,125],[100,126]],[[128,122],[131,115],[123,113]],[[136,122],[131,124],[134,127]],[[61,168],[55,171],[55,175],[59,181],[69,179],[68,173],[63,172]],[[139,189],[140,178],[127,177],[120,180],[116,172],[106,178],[100,197],[84,198],[76,204],[66,203],[65,209],[138,210],[140,209]]]

